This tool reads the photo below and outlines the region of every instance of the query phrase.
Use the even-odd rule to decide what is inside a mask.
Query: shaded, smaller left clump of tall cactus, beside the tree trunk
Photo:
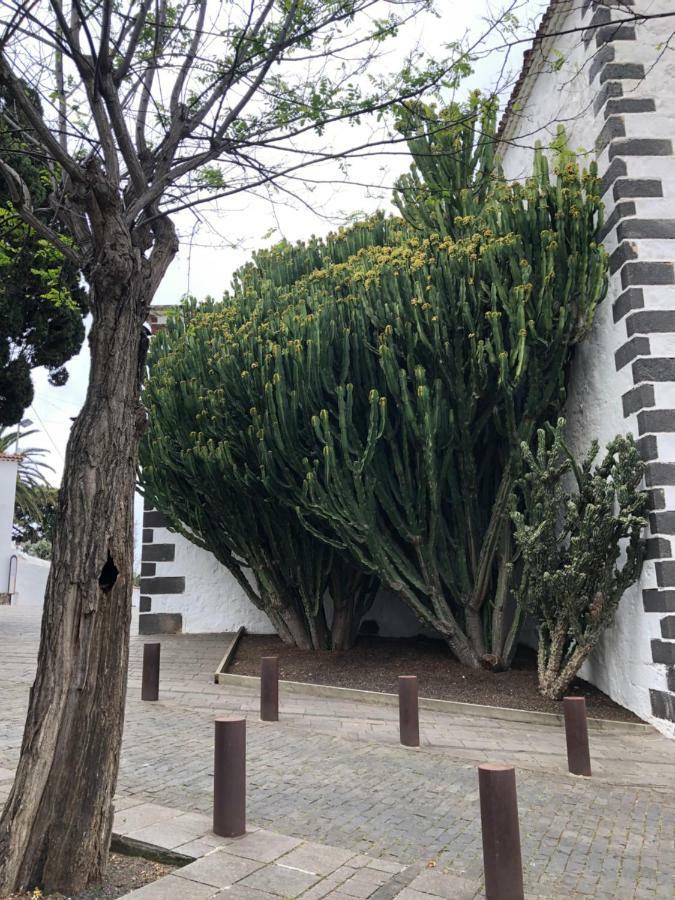
[[[223,390],[214,380],[213,342],[193,328],[193,313],[193,306],[183,307],[153,340],[140,457],[145,491],[175,530],[230,570],[284,641],[344,649],[354,621],[372,603],[374,579],[317,541],[293,510],[268,494],[236,408],[209,414]],[[237,319],[229,311],[225,327]],[[334,639],[324,608],[329,584]]]

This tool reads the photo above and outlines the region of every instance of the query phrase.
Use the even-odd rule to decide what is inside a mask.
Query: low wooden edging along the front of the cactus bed
[[[232,684],[239,687],[260,689],[260,678],[257,675],[235,675],[228,672],[217,672],[216,684]],[[397,706],[396,694],[385,694],[380,691],[361,691],[357,688],[341,688],[331,684],[310,684],[303,681],[279,681],[280,694],[305,694],[310,697],[326,697],[333,700],[353,700],[361,703],[375,703],[379,706]],[[508,706],[481,706],[478,703],[463,703],[460,700],[436,700],[431,697],[420,697],[420,709],[434,712],[454,713],[461,716],[478,716],[486,719],[503,719],[507,722],[525,722],[538,725],[561,726],[562,713],[545,713],[529,709],[511,709]],[[588,727],[593,731],[615,732],[652,732],[654,729],[647,722],[617,722],[612,719],[588,719]]]

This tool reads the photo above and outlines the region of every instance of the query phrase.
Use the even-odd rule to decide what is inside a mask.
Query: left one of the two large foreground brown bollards
[[[216,719],[213,831],[220,837],[246,833],[246,719]]]

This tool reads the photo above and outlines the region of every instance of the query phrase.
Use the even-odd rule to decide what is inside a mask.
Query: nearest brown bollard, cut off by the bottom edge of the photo
[[[523,863],[516,772],[502,763],[478,766],[486,900],[523,900]]]

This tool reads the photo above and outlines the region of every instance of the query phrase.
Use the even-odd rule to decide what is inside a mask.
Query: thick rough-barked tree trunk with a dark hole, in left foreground
[[[100,881],[110,845],[145,419],[142,327],[177,244],[166,223],[158,272],[133,246],[121,215],[106,217],[100,206],[96,214],[102,241],[87,272],[89,386],[68,441],[38,670],[0,819],[0,895],[36,886],[76,893]]]

